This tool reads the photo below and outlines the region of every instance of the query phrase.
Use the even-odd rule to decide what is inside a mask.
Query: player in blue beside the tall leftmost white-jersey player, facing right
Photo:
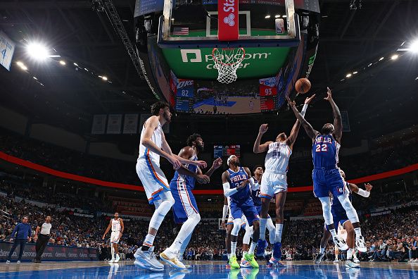
[[[194,133],[187,139],[187,146],[180,151],[179,157],[189,161],[197,161],[198,154],[204,148],[205,144],[201,135]],[[205,176],[210,177],[221,165],[222,159],[216,159],[205,175],[202,174],[200,168],[191,163],[185,164],[184,167],[189,169],[191,173],[196,173],[198,178],[203,178]],[[183,175],[177,171],[170,182],[172,197],[175,199],[175,204],[172,206],[175,222],[182,223],[183,225],[175,241],[160,254],[160,258],[175,268],[189,268],[189,266],[184,266],[182,263],[183,253],[187,244],[189,244],[194,228],[201,221],[196,200],[191,192],[194,189],[195,182],[196,178],[193,176]]]

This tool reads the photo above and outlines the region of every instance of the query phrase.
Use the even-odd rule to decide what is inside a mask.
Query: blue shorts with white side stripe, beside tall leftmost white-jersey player
[[[172,206],[175,223],[182,224],[189,216],[199,213],[196,199],[194,199],[189,187],[186,186],[186,182],[172,180],[170,190],[172,197],[175,199],[175,204]]]

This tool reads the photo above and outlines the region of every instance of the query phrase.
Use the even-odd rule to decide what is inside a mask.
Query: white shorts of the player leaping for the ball
[[[260,194],[258,197],[271,199],[279,192],[287,191],[286,174],[265,171],[262,175]]]

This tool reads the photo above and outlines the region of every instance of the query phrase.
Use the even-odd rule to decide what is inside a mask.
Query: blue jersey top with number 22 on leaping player
[[[341,145],[332,135],[317,135],[312,144],[314,168],[326,170],[337,168],[340,147]]]

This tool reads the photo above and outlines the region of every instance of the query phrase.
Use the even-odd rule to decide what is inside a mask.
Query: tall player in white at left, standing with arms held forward
[[[194,177],[198,182],[208,183],[209,177],[192,173],[182,166],[182,163],[184,163],[205,168],[206,163],[204,161],[191,161],[172,154],[162,129],[163,125],[171,120],[168,104],[163,101],[157,101],[151,106],[151,113],[153,116],[145,121],[141,132],[137,174],[142,185],[144,185],[148,202],[156,206],[156,211],[154,211],[149,222],[148,234],[144,239],[142,247],[137,249],[137,252],[134,254],[136,259],[134,263],[150,271],[163,271],[164,265],[157,261],[153,252],[153,242],[165,215],[170,211],[172,205],[175,204],[175,199],[170,192],[167,178],[165,178],[163,171],[160,169],[160,156],[170,161],[180,174]]]

